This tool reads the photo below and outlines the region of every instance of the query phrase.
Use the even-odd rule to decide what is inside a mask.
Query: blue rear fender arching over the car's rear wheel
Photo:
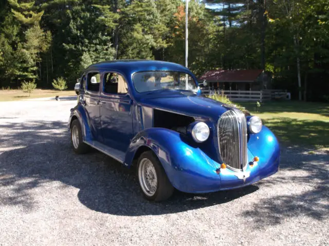
[[[83,140],[92,140],[92,132],[90,131],[88,116],[85,108],[81,104],[78,104],[76,107],[71,109],[71,114],[68,119],[68,130],[70,130],[72,120],[75,118],[77,118],[80,122]]]

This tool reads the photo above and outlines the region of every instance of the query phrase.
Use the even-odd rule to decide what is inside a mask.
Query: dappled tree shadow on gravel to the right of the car
[[[260,181],[262,187],[279,186],[289,195],[272,196],[254,204],[243,215],[252,219],[255,227],[280,224],[291,217],[311,217],[316,220],[329,218],[329,156],[326,152],[307,154],[307,150],[282,151],[280,172],[290,175],[274,175]],[[295,156],[291,159],[291,156]],[[280,190],[280,189],[278,189]],[[297,191],[297,192],[296,192]],[[251,222],[250,221],[250,222]]]

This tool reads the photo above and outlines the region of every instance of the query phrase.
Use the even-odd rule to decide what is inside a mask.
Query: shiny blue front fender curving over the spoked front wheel
[[[189,139],[165,128],[149,128],[138,133],[126,152],[125,163],[131,165],[138,148],[147,146],[160,160],[171,184],[185,192],[218,190],[220,164],[202,150],[189,145]]]

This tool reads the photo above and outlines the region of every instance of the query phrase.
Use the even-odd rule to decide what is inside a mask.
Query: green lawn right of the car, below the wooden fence
[[[280,142],[289,145],[329,149],[329,104],[298,101],[239,103],[263,119]]]

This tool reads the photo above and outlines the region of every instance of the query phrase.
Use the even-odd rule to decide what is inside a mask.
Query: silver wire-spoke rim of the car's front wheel
[[[139,184],[145,195],[151,197],[155,194],[157,189],[158,179],[153,163],[143,158],[138,167]]]

